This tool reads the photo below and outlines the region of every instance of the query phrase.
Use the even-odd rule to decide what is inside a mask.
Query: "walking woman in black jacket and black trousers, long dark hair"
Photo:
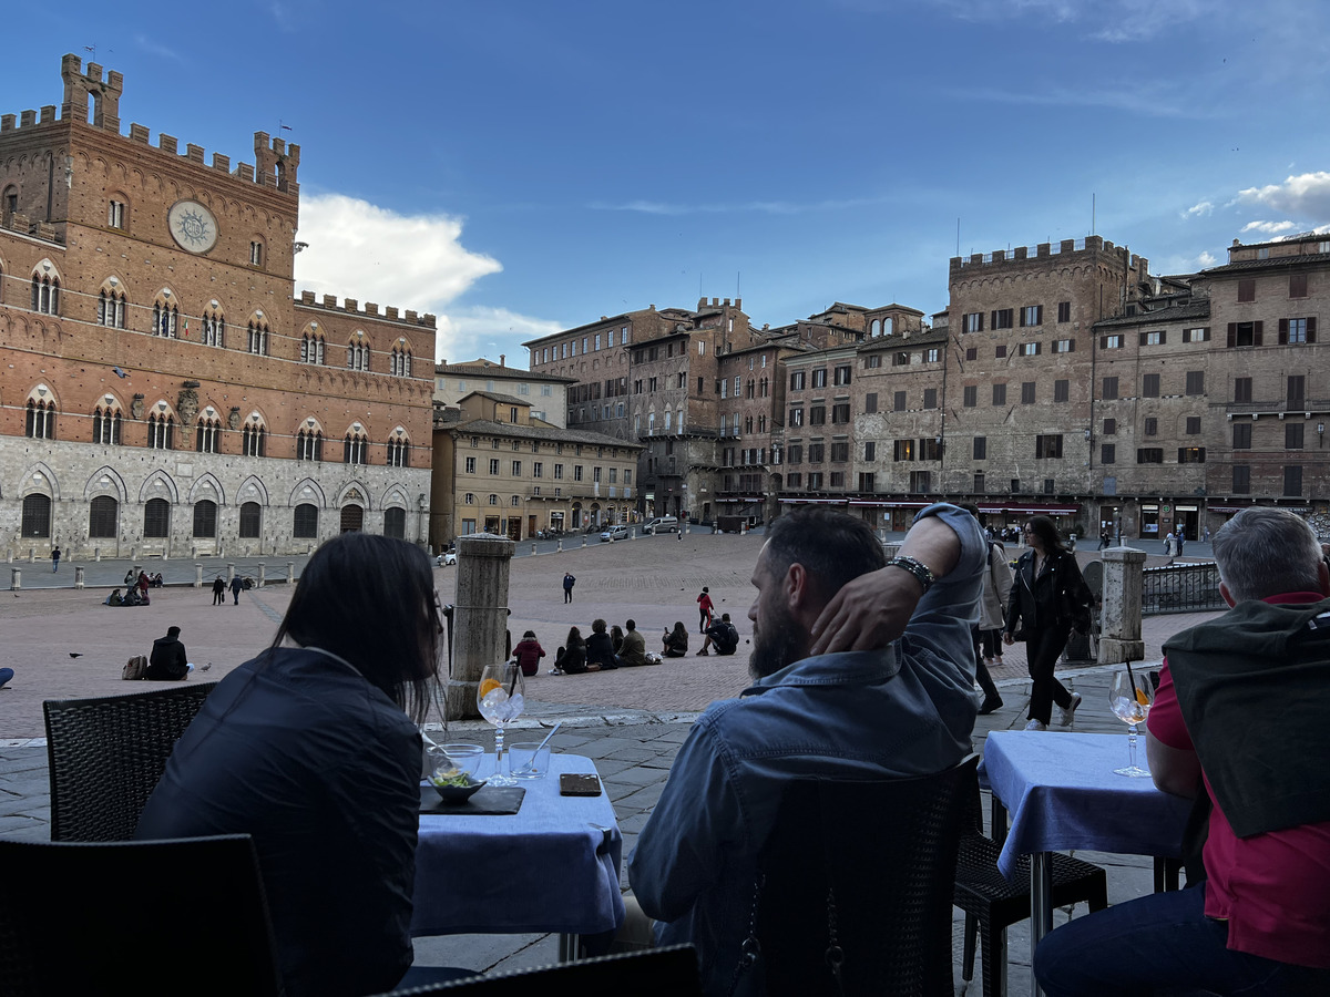
[[[1080,706],[1080,694],[1068,693],[1053,669],[1072,629],[1089,627],[1093,596],[1081,578],[1076,556],[1063,546],[1051,518],[1035,516],[1024,533],[1029,549],[1016,562],[1003,643],[1013,643],[1017,629],[1021,630],[1031,678],[1025,730],[1048,730],[1053,703],[1059,722],[1068,727]]]

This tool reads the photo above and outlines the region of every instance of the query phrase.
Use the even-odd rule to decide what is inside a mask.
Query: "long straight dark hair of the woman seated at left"
[[[420,548],[343,533],[305,565],[273,647],[290,638],[346,658],[420,723],[439,675],[436,600],[434,569]]]

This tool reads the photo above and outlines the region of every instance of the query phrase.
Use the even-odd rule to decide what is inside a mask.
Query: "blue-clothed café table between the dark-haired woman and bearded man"
[[[493,771],[493,755],[480,775]],[[560,932],[560,957],[573,936],[618,928],[624,837],[614,807],[600,796],[560,796],[563,772],[596,772],[581,755],[551,755],[544,779],[513,815],[422,814],[411,933],[525,935]]]

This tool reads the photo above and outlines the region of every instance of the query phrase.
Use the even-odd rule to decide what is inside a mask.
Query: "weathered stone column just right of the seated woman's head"
[[[444,694],[450,720],[475,719],[476,683],[485,665],[504,661],[508,572],[517,545],[507,537],[458,537],[458,601],[452,610],[452,678]]]

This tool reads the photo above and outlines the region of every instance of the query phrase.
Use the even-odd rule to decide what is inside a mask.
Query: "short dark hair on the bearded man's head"
[[[826,600],[887,564],[867,522],[821,505],[801,505],[766,528],[766,561],[777,577],[803,565]]]

